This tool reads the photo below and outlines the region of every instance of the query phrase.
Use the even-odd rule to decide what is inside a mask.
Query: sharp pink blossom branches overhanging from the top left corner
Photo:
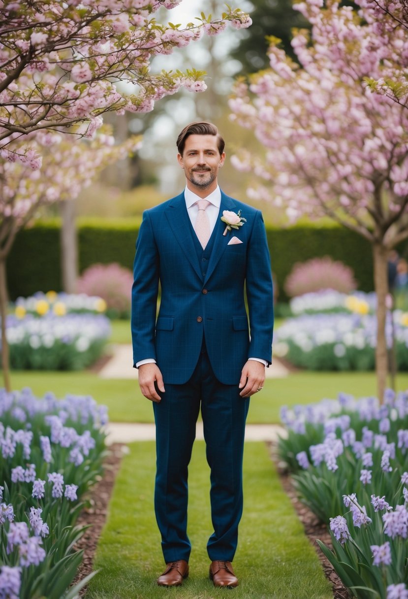
[[[144,113],[181,86],[205,89],[203,73],[152,74],[150,60],[187,46],[203,32],[215,35],[227,22],[248,27],[251,19],[228,9],[221,19],[204,13],[197,24],[161,25],[160,7],[181,0],[4,0],[0,4],[0,156],[38,168],[41,157],[10,142],[39,129],[83,122],[92,136],[106,111]],[[133,93],[118,82],[133,84]]]

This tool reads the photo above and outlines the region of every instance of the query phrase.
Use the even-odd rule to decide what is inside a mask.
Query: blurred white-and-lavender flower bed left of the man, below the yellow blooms
[[[103,314],[7,317],[10,362],[17,370],[81,370],[101,356],[110,334]]]

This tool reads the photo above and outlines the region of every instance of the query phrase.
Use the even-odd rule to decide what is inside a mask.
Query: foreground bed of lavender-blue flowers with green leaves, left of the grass
[[[0,596],[69,599],[87,489],[102,472],[106,409],[90,397],[0,390]]]

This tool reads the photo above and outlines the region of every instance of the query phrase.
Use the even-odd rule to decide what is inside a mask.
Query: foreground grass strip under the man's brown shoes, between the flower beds
[[[99,539],[94,567],[101,571],[86,599],[214,599],[208,579],[206,541],[211,534],[209,470],[205,444],[194,445],[190,468],[188,534],[193,546],[190,576],[181,588],[163,589],[156,577],[164,562],[154,519],[154,443],[135,443],[125,456]],[[333,594],[312,545],[282,490],[267,448],[246,443],[245,507],[234,560],[240,585],[235,599],[330,599]]]

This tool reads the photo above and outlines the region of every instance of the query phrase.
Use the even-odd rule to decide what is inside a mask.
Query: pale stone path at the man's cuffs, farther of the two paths
[[[137,379],[138,371],[132,368],[132,346],[129,344],[112,344],[112,357],[99,371],[102,379]],[[288,376],[285,368],[277,358],[273,358],[273,364],[266,368],[267,379],[281,379]]]

